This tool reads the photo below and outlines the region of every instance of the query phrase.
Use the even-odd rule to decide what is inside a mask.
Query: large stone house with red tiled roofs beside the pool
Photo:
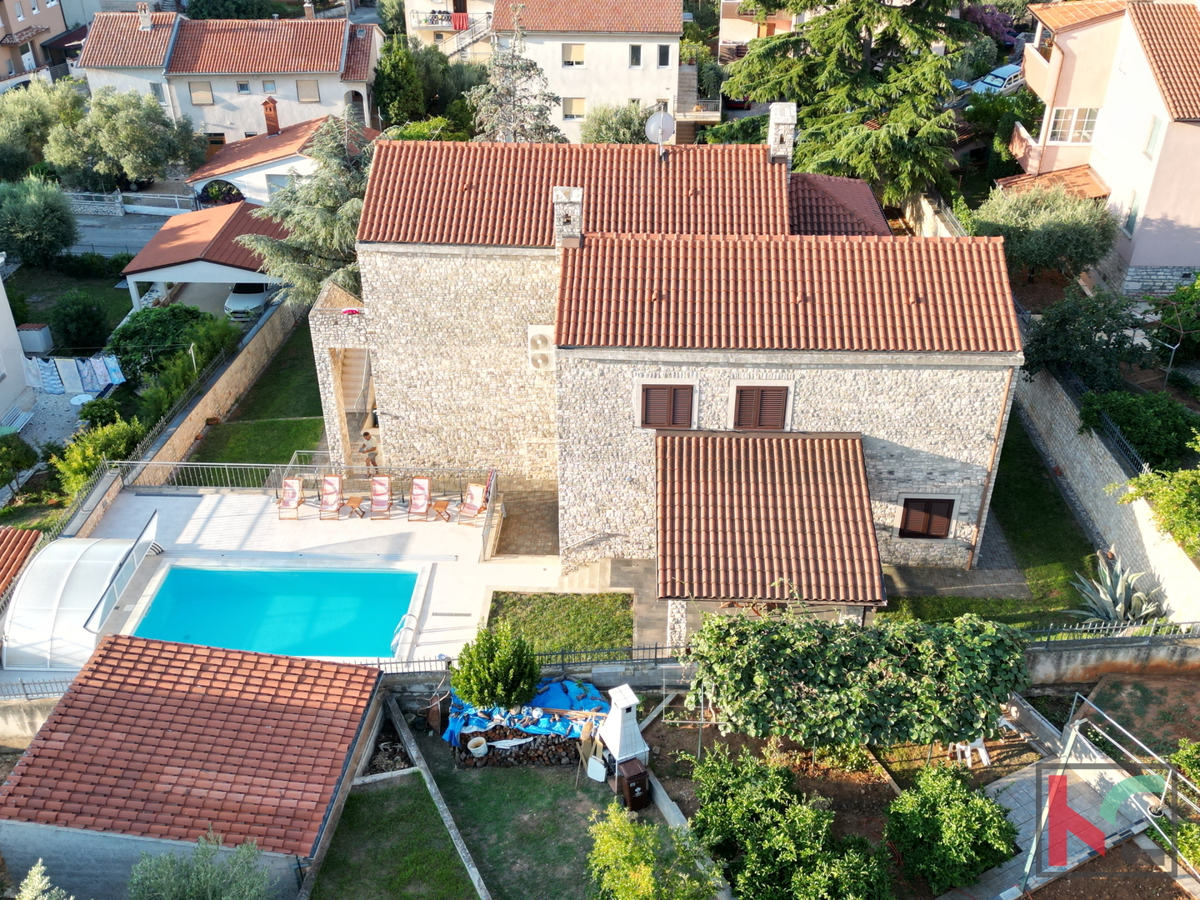
[[[842,479],[834,520],[781,509],[773,540],[805,522],[842,534],[836,517],[858,523],[848,510],[869,492],[874,534],[854,571],[872,553],[970,565],[1022,360],[1003,246],[889,236],[862,182],[790,174],[794,108],[772,116],[769,148],[665,158],[647,145],[379,144],[364,296],[331,294],[310,317],[334,458],[350,457],[348,398],[373,396],[384,464],[553,480],[565,568],[662,564],[667,509],[691,488],[656,468],[658,432],[824,434],[864,461],[852,479],[848,463],[822,476]],[[362,371],[367,389],[343,382]],[[823,445],[784,446],[803,467]],[[782,473],[756,482],[762,472],[739,470],[724,503],[751,515],[793,490]],[[746,558],[761,536],[739,539]],[[787,565],[763,571],[817,590],[788,546]],[[881,599],[856,583],[821,599]]]

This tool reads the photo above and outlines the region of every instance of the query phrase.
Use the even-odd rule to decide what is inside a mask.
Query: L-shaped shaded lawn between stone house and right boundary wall
[[[1061,611],[1079,605],[1070,580],[1076,571],[1094,571],[1096,552],[1016,415],[1008,424],[991,508],[1033,600],[902,596],[888,600],[884,618],[949,619],[973,612],[1021,628],[1078,623]]]

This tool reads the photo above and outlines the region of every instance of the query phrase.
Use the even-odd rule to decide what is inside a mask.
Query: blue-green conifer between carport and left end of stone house
[[[372,150],[353,118],[330,116],[306,151],[317,162],[316,170],[289,180],[254,214],[278,222],[288,234],[238,239],[263,257],[264,269],[287,286],[289,298],[312,302],[326,281],[361,294],[354,240]]]

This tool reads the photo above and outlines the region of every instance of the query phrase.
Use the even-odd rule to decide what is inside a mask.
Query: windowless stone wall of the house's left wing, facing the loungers
[[[556,251],[391,245],[359,248],[362,311],[312,316],[335,460],[341,396],[331,350],[366,347],[384,466],[558,472],[554,374],[528,361],[528,326],[554,320]]]

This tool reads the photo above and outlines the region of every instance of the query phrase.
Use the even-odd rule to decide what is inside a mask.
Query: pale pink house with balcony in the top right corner
[[[1106,197],[1121,218],[1100,265],[1127,293],[1168,293],[1200,274],[1200,8],[1081,0],[1034,4],[1030,89],[1046,104],[1037,139],[1013,149],[1027,175]],[[1019,179],[1018,188],[1030,184]]]

